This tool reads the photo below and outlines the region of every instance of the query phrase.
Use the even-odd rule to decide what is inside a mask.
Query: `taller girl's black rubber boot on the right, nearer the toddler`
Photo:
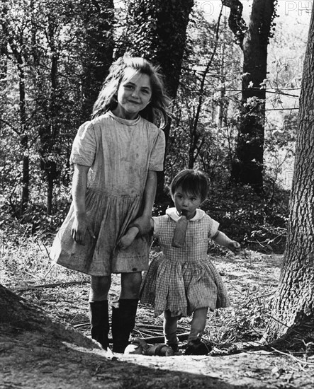
[[[112,307],[113,352],[123,353],[129,344],[130,333],[135,326],[138,299],[121,299],[119,308]]]

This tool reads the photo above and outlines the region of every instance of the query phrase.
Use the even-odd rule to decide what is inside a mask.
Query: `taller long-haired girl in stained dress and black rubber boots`
[[[148,267],[145,230],[164,158],[164,133],[155,124],[165,122],[167,101],[150,62],[121,57],[111,66],[92,120],[79,127],[72,146],[73,201],[51,255],[57,264],[91,275],[91,337],[103,349],[108,348],[111,273],[121,274],[112,312],[114,352],[128,345],[141,272]],[[120,243],[128,228],[140,236]]]

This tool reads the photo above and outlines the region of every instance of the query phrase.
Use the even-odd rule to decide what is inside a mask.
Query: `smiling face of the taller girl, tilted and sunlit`
[[[114,115],[132,120],[138,117],[152,98],[150,77],[147,74],[136,74],[134,69],[126,68],[123,80],[118,88],[118,105]]]

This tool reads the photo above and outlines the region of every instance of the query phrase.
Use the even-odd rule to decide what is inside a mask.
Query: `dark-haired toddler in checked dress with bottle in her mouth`
[[[192,315],[186,354],[203,354],[201,336],[208,308],[230,305],[223,281],[207,255],[208,238],[233,252],[240,250],[240,244],[220,232],[219,223],[198,209],[208,194],[204,173],[182,170],[172,181],[170,192],[175,208],[167,209],[164,216],[152,218],[154,236],[162,252],[150,263],[140,301],[152,304],[155,315],[164,313],[165,342],[175,352],[177,320]],[[185,214],[189,223],[183,247],[175,248],[172,237],[181,214]]]

